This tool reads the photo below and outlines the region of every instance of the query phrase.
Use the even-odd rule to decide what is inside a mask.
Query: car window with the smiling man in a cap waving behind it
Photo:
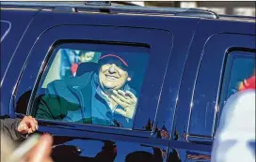
[[[40,80],[35,116],[131,128],[148,60],[148,47],[61,44]]]

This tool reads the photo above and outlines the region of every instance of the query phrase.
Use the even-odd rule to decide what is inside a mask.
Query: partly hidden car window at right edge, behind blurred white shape
[[[233,94],[255,88],[255,55],[253,51],[229,53],[220,94],[220,111]]]

